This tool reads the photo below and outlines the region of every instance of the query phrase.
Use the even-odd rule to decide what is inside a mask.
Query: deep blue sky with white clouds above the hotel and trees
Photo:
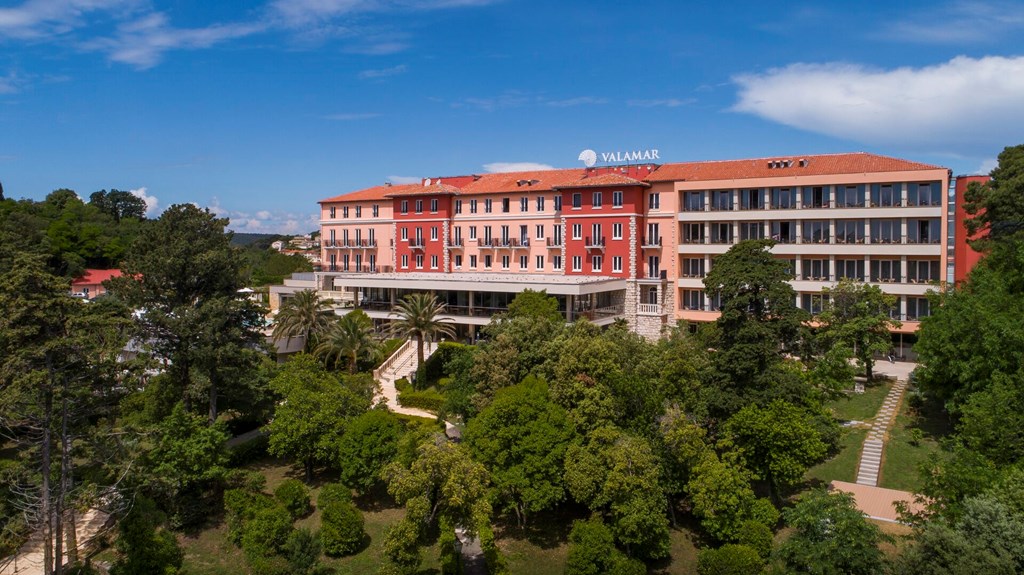
[[[0,1],[0,182],[232,229],[408,178],[1024,142],[1024,2]]]

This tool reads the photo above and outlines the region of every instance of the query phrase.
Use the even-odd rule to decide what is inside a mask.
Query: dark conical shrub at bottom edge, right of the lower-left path
[[[115,548],[118,559],[111,575],[174,575],[183,554],[174,534],[164,528],[164,515],[156,503],[136,497],[128,515],[118,525]]]

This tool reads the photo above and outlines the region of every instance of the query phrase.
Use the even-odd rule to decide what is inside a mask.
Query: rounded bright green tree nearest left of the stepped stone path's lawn
[[[748,405],[726,422],[725,433],[776,494],[801,481],[828,452],[807,411],[782,400]]]

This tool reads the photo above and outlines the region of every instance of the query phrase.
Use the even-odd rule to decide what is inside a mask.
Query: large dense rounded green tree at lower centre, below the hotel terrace
[[[487,408],[470,421],[466,444],[490,472],[502,506],[516,515],[550,508],[562,500],[565,449],[572,439],[565,411],[552,403],[548,386],[527,378],[498,392]]]

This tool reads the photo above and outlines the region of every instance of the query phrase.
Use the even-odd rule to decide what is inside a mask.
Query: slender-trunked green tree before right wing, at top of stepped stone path
[[[874,356],[892,348],[890,329],[901,325],[890,317],[898,298],[873,283],[849,278],[825,290],[822,298],[824,306],[816,319],[821,323],[820,334],[826,345],[852,349],[870,380]]]

